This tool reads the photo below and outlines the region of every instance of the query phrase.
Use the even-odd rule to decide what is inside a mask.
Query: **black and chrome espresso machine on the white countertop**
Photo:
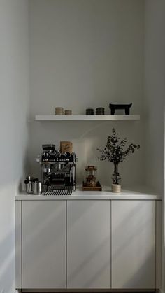
[[[74,152],[59,152],[55,145],[42,145],[43,152],[36,162],[41,164],[44,195],[70,195],[76,190],[76,161]]]

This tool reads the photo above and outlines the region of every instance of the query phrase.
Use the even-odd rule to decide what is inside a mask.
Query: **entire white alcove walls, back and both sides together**
[[[15,288],[14,195],[29,170],[28,145],[36,176],[41,144],[58,147],[60,140],[71,140],[79,156],[78,180],[86,164],[96,164],[101,183],[109,184],[113,166],[97,161],[96,148],[115,126],[129,141],[141,143],[141,150],[120,167],[123,185],[145,181],[164,191],[164,0],[145,1],[145,129],[143,119],[135,124],[33,121],[36,114],[54,113],[55,106],[71,108],[74,114],[104,106],[109,113],[108,103],[131,101],[131,113],[144,117],[144,1],[29,2],[30,144],[28,1],[0,0],[0,292],[6,293]]]

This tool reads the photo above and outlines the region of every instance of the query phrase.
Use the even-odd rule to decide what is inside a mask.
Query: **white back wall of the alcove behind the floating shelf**
[[[79,157],[77,181],[84,167],[96,164],[101,183],[110,185],[113,165],[99,162],[112,127],[140,143],[141,150],[120,166],[122,185],[143,183],[142,123],[40,123],[36,114],[54,114],[56,106],[72,109],[133,102],[131,113],[143,114],[143,0],[30,0],[31,173],[42,143],[73,141]]]

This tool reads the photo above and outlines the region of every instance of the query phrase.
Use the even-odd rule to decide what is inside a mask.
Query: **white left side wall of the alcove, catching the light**
[[[0,292],[15,292],[14,196],[26,171],[28,2],[0,0]]]

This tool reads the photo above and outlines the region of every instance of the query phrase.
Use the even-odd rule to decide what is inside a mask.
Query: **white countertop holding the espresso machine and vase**
[[[151,191],[148,187],[132,187],[129,189],[122,190],[119,193],[114,193],[110,191],[110,187],[103,187],[102,192],[96,191],[82,191],[81,187],[77,187],[75,192],[71,195],[33,195],[22,192],[15,196],[16,201],[29,201],[29,200],[73,200],[73,199],[113,199],[113,200],[162,200],[162,196],[156,192]]]

